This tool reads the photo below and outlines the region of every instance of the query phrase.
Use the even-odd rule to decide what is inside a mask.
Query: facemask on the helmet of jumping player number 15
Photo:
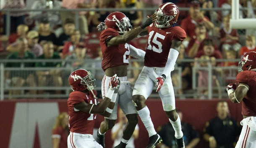
[[[157,28],[168,28],[172,25],[170,24],[170,21],[174,18],[174,16],[165,15],[161,10],[157,10],[155,13],[157,13],[157,20],[154,22],[154,25]]]

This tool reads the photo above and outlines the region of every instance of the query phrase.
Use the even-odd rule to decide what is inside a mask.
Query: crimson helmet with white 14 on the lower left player
[[[88,89],[92,92],[94,87],[96,87],[96,80],[92,76],[91,72],[84,69],[77,69],[73,71],[68,78],[68,82],[73,91]]]

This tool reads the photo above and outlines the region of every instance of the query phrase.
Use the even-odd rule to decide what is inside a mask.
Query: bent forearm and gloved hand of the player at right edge
[[[246,96],[249,86],[245,83],[240,83],[238,87],[236,87],[235,83],[231,83],[227,85],[226,90],[231,102],[240,103]]]

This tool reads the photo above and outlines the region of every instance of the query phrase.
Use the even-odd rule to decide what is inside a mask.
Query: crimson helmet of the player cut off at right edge
[[[254,51],[246,53],[238,63],[238,72],[246,70],[256,71],[256,52]]]

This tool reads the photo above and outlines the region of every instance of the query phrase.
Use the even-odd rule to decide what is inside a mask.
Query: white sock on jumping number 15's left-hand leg
[[[140,116],[141,121],[143,122],[146,130],[149,133],[149,137],[151,137],[152,135],[156,135],[157,132],[154,129],[154,125],[153,125],[153,122],[150,117],[149,108],[146,106],[143,109],[138,110],[137,112],[138,112],[138,115]]]

